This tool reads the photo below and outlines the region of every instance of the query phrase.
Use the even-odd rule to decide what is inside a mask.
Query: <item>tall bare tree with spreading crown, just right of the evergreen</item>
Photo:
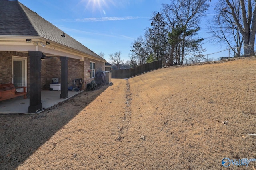
[[[182,41],[180,42],[181,61],[179,64],[183,64],[186,54],[185,50],[186,48],[188,49],[187,45],[192,48],[194,47],[187,43],[188,39],[190,39],[191,42],[199,42],[200,39],[192,40],[192,36],[195,35],[193,35],[192,32],[195,33],[197,29],[200,29],[198,27],[200,18],[206,15],[208,8],[208,0],[171,0],[170,4],[163,5],[163,14],[166,18],[166,24],[170,29],[175,28],[176,25],[180,25],[180,27],[184,29],[180,36]],[[191,48],[188,50],[191,50]]]

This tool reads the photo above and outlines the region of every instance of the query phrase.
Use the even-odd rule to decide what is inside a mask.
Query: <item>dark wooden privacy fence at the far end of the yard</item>
[[[111,70],[111,72],[112,78],[129,78],[159,68],[162,68],[161,60],[153,61],[152,63],[143,64],[141,66],[127,70]]]

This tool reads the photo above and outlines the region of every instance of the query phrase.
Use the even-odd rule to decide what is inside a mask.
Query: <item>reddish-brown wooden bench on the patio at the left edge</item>
[[[16,89],[18,88],[23,88],[23,92],[17,92]],[[23,96],[26,99],[26,94],[26,87],[15,87],[12,83],[0,84],[0,101],[18,96]]]

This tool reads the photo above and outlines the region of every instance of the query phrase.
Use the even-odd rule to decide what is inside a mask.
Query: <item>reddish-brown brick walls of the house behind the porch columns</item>
[[[28,56],[28,53],[0,51],[0,84],[12,82],[12,56],[27,57],[27,86],[29,92],[30,57]],[[104,71],[104,62],[86,57],[84,58],[84,61],[68,58],[68,86],[72,86],[74,79],[82,78],[84,80],[82,90],[86,88],[86,84],[91,82],[90,74],[88,73],[90,62],[95,62],[96,73]],[[42,90],[49,90],[52,78],[59,78],[59,82],[61,82],[60,57],[46,57],[41,64]]]

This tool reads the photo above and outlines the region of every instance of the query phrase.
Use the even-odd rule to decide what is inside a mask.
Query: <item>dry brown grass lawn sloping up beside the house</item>
[[[254,169],[256,58],[169,67],[0,116],[0,169]],[[225,124],[222,122],[226,122]]]

